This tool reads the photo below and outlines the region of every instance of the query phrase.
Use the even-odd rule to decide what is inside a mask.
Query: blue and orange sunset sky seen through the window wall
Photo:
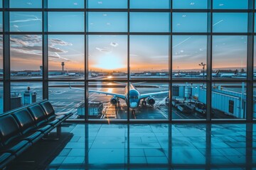
[[[247,8],[244,0],[214,0],[213,8]],[[39,0],[10,0],[11,8],[41,8]],[[50,0],[48,8],[84,8],[83,0]],[[127,8],[127,0],[88,0],[88,8]],[[130,0],[130,8],[169,8],[169,0]],[[206,0],[173,0],[173,8],[207,8]],[[0,13],[0,29],[2,20]],[[48,12],[48,31],[83,33],[127,33],[128,13],[89,12],[85,22],[83,12]],[[206,33],[207,13],[131,12],[131,33]],[[41,32],[41,12],[10,12],[10,31]],[[213,13],[213,33],[247,33],[247,13]],[[92,70],[127,71],[127,35],[89,35],[88,64]],[[201,69],[206,63],[206,35],[130,35],[130,67],[134,72],[165,70],[172,64],[175,70]],[[213,36],[213,69],[245,67],[246,36]],[[172,54],[170,54],[170,49]],[[49,35],[49,70],[82,70],[85,68],[85,38],[83,35]],[[169,62],[169,56],[173,61]],[[30,61],[30,62],[28,62]],[[30,64],[33,61],[33,64]],[[2,62],[2,61],[1,61]],[[42,64],[41,35],[11,35],[11,70],[38,70]],[[0,63],[1,65],[1,63]]]

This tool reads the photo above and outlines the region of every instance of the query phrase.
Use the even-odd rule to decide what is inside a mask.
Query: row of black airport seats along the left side
[[[49,101],[42,101],[0,117],[0,169],[57,128],[72,113],[55,113]]]

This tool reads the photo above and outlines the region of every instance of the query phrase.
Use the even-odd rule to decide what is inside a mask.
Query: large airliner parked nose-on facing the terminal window
[[[115,106],[117,104],[119,105],[119,99],[124,100],[127,103],[127,106],[128,106],[128,102],[129,102],[129,107],[132,108],[132,115],[135,115],[135,108],[139,107],[139,103],[142,99],[143,99],[142,106],[146,106],[146,103],[153,106],[154,103],[156,103],[156,101],[154,100],[154,98],[152,96],[156,96],[159,94],[169,94],[169,91],[154,92],[154,93],[149,93],[149,94],[140,94],[134,85],[142,84],[142,82],[134,83],[134,84],[130,83],[129,84],[129,101],[128,101],[128,86],[127,86],[127,84],[121,83],[121,82],[115,82],[115,83],[125,85],[124,94],[114,94],[114,93],[110,93],[107,91],[94,91],[94,90],[89,90],[89,92],[113,96],[112,98],[110,98],[110,103]],[[71,86],[70,86],[70,89],[77,89],[77,90],[85,91],[85,89],[73,88]]]

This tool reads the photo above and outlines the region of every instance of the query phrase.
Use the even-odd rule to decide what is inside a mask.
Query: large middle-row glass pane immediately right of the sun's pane
[[[131,35],[132,79],[169,79],[169,36]]]

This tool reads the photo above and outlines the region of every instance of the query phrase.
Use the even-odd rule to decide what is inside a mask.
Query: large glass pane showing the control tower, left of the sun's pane
[[[48,77],[85,79],[84,35],[48,35]]]

